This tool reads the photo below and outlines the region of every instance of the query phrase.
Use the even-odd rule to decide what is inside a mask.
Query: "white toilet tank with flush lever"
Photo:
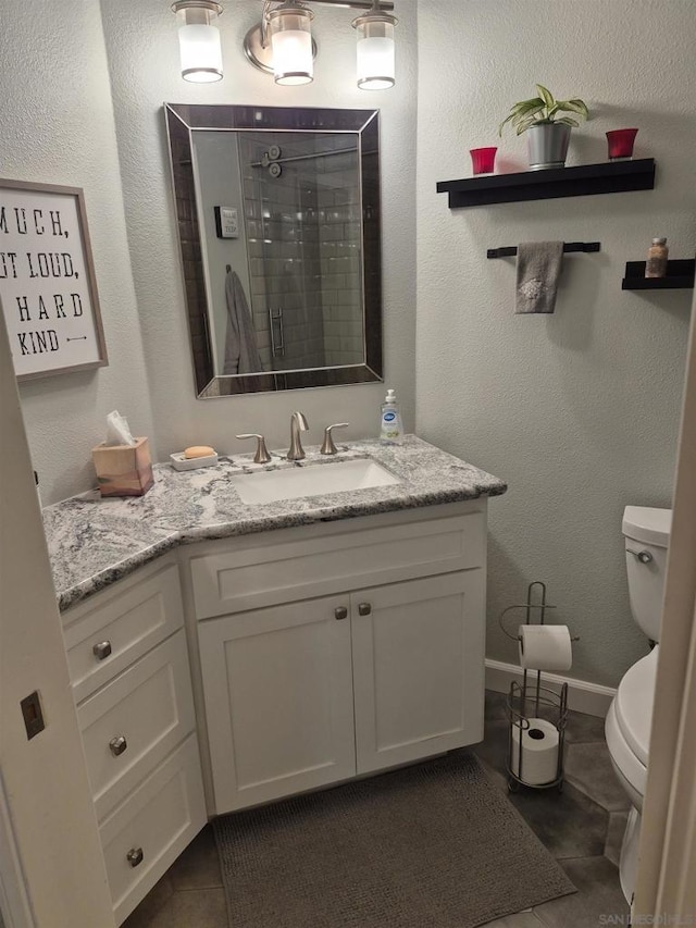
[[[652,641],[660,640],[660,619],[671,509],[626,506],[621,525],[626,550],[631,611]]]

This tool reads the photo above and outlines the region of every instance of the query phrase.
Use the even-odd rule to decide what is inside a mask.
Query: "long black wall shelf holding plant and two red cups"
[[[437,182],[437,193],[448,194],[450,209],[556,197],[584,197],[588,194],[651,190],[654,187],[652,158]]]

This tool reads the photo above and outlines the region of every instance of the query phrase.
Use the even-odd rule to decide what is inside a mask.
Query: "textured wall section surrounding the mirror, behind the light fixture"
[[[398,82],[389,91],[355,86],[350,10],[318,7],[315,81],[276,87],[241,50],[259,20],[259,0],[227,3],[220,18],[225,77],[195,86],[181,79],[176,23],[161,0],[102,0],[135,287],[160,457],[189,444],[248,450],[237,432],[263,432],[270,447],[289,442],[289,414],[302,409],[320,442],[322,426],[347,420],[349,437],[376,434],[384,385],[304,389],[201,401],[195,398],[170,190],[162,102],[265,103],[381,110],[385,379],[413,425],[415,332],[415,0],[400,0]]]

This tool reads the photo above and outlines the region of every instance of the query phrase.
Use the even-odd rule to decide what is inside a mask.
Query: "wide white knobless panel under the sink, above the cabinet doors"
[[[485,500],[463,516],[336,532],[307,541],[239,544],[190,558],[199,619],[483,567]],[[237,540],[235,540],[237,541]]]

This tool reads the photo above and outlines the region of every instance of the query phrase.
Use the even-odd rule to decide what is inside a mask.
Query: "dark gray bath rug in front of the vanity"
[[[232,928],[474,928],[575,892],[464,751],[212,825]]]

